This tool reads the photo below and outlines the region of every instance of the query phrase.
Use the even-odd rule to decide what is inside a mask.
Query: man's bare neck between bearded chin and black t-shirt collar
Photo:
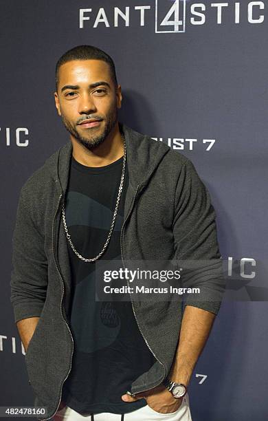
[[[71,136],[73,157],[85,166],[104,166],[115,162],[124,155],[124,143],[118,124],[98,147],[91,151]]]

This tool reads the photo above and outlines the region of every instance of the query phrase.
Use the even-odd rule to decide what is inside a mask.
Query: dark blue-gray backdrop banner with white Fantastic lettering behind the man
[[[54,71],[100,47],[122,86],[120,121],[186,155],[216,210],[227,292],[194,369],[194,421],[268,419],[268,1],[2,0],[0,406],[32,406],[10,303],[21,186],[69,140]]]

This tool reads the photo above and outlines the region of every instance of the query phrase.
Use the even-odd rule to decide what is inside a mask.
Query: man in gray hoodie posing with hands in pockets
[[[224,290],[209,193],[188,158],[118,122],[121,87],[102,50],[63,54],[54,97],[71,142],[21,188],[12,239],[39,419],[189,421],[187,387]],[[178,300],[97,301],[104,259],[207,263],[186,268],[201,292],[183,312]]]

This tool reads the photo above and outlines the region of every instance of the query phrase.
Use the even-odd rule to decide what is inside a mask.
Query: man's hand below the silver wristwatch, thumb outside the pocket
[[[135,396],[128,394],[121,396],[124,402],[135,402],[135,400],[144,398],[148,406],[159,413],[172,413],[181,406],[182,398],[174,398],[172,393],[164,387],[159,385],[153,389],[137,393]]]

